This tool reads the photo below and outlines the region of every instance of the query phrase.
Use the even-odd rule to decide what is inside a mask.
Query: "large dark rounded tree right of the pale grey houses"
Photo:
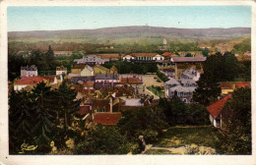
[[[239,74],[238,61],[233,54],[217,53],[207,58],[203,64],[204,74],[197,82],[198,87],[193,93],[193,100],[209,105],[221,94],[219,82],[234,81]]]

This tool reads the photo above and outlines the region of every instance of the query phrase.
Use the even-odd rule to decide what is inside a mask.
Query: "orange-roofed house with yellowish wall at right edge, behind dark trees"
[[[220,82],[220,87],[222,88],[222,94],[229,94],[233,92],[235,88],[251,87],[251,83],[250,82]]]

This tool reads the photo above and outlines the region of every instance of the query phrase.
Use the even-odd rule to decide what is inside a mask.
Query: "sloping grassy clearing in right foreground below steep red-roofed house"
[[[187,144],[196,144],[200,146],[215,146],[215,139],[218,134],[217,130],[211,126],[206,127],[172,127],[169,128],[163,138],[155,145],[160,147],[176,147]]]

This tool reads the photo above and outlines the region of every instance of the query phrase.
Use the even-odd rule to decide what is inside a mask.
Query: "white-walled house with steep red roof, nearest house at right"
[[[209,118],[215,128],[223,129],[223,108],[224,104],[231,98],[231,94],[207,107]]]

